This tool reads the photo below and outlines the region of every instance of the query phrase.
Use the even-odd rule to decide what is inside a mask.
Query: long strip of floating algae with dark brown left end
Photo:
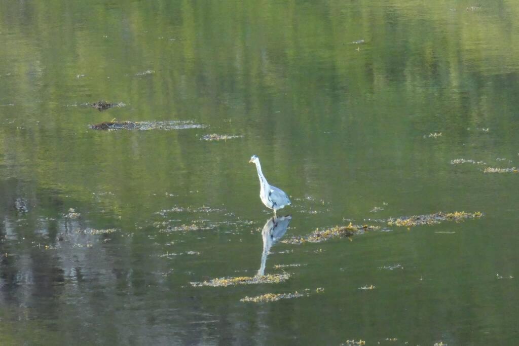
[[[90,125],[92,130],[184,130],[203,129],[205,125],[192,120],[169,121],[103,121]]]

